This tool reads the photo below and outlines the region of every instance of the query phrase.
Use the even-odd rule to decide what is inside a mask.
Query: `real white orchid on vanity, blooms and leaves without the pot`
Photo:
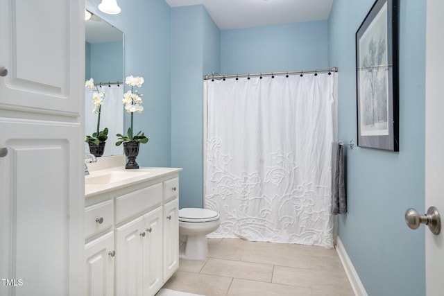
[[[123,134],[117,134],[119,141],[116,142],[116,146],[120,146],[121,143],[130,142],[130,141],[139,142],[139,143],[148,142],[148,138],[145,137],[144,132],[139,131],[137,132],[137,134],[134,134],[134,129],[133,129],[134,112],[142,113],[142,111],[144,110],[144,107],[142,106],[143,103],[142,97],[144,95],[139,94],[139,91],[137,91],[137,89],[134,88],[142,87],[143,83],[144,83],[144,78],[139,76],[136,77],[128,76],[125,79],[125,84],[129,85],[131,89],[128,90],[128,92],[126,92],[125,94],[123,94],[122,103],[123,105],[125,105],[126,112],[131,114],[131,126],[130,128],[128,128],[128,132],[126,132],[125,136]]]

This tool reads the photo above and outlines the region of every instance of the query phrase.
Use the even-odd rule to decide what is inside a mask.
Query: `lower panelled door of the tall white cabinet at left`
[[[0,277],[23,281],[0,294],[81,295],[83,131],[1,117],[0,127]]]

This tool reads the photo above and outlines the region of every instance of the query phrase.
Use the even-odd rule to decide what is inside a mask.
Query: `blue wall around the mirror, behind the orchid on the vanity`
[[[142,76],[144,112],[135,114],[135,130],[149,138],[142,144],[140,166],[171,166],[171,8],[164,0],[119,1],[121,13],[106,15],[97,1],[88,10],[125,33],[125,76]],[[123,105],[122,105],[123,108]],[[125,112],[125,129],[130,116]]]

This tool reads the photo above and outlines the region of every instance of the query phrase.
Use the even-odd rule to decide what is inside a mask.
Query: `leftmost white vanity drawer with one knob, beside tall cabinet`
[[[114,223],[112,200],[93,204],[85,208],[85,237],[92,236]]]

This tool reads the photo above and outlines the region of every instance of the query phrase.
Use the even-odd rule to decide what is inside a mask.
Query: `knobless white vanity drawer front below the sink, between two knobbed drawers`
[[[116,223],[151,209],[162,202],[162,183],[116,198]]]

